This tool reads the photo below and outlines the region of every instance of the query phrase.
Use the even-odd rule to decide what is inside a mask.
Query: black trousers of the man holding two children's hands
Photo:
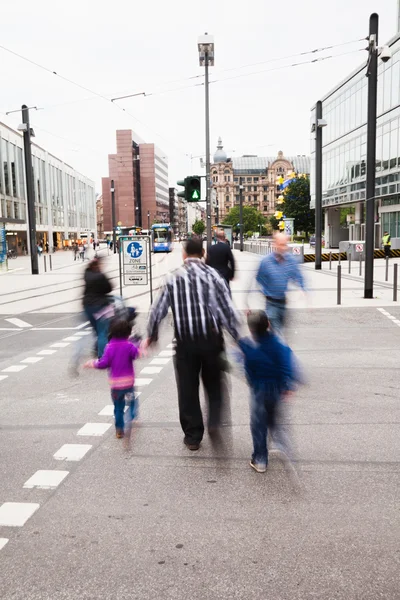
[[[221,343],[210,340],[185,340],[177,343],[175,363],[178,387],[179,419],[185,441],[200,443],[204,434],[200,407],[200,374],[208,399],[208,426],[218,427],[221,421],[222,373],[220,368]]]

